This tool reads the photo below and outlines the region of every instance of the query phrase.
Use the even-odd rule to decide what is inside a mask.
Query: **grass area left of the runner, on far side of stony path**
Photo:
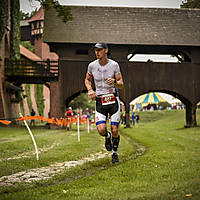
[[[0,176],[57,162],[79,160],[103,149],[103,141],[94,131],[81,131],[81,142],[78,142],[76,132],[65,129],[32,129],[32,133],[40,152],[39,161],[36,160],[34,145],[26,128],[0,127]]]

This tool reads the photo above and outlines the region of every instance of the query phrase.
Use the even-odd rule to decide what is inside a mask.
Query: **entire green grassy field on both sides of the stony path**
[[[184,111],[141,112],[137,127],[120,128],[119,164],[110,156],[65,170],[46,181],[0,184],[0,199],[199,200],[200,127],[184,128]],[[197,122],[200,112],[197,111]],[[0,177],[104,152],[94,130],[33,129],[40,151],[26,129],[0,127]]]

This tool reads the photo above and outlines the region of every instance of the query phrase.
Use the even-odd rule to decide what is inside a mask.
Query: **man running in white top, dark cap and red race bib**
[[[96,60],[88,65],[85,86],[89,99],[96,100],[95,120],[96,127],[101,136],[105,137],[107,151],[112,151],[112,163],[119,162],[118,145],[120,136],[118,127],[120,122],[120,102],[118,89],[124,86],[119,64],[107,57],[108,46],[98,42],[94,46]],[[96,92],[92,88],[92,78],[95,82]],[[111,118],[111,132],[107,131],[107,117]]]

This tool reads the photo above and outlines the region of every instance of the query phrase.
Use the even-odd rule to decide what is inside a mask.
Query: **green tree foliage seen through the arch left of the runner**
[[[89,108],[89,110],[94,110],[95,101],[88,99],[87,93],[81,93],[78,97],[76,97],[69,103],[69,106],[71,106],[73,110],[75,109],[85,110],[86,108]]]

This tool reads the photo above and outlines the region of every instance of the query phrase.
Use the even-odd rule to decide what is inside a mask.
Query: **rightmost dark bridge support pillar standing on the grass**
[[[186,128],[195,127],[197,126],[196,121],[196,105],[194,104],[187,104],[186,105]]]

